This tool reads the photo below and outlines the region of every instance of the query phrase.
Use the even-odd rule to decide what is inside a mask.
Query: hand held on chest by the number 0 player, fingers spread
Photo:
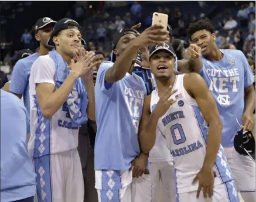
[[[155,109],[153,109],[153,113],[157,115],[158,118],[165,115],[170,106],[176,102],[176,100],[169,99],[176,92],[177,90],[172,90],[172,85],[170,85],[165,93],[159,98],[158,104],[156,104]]]

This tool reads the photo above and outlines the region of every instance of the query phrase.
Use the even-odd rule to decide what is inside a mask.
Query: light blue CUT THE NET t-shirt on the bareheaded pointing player
[[[244,113],[244,88],[252,85],[253,74],[246,57],[240,50],[221,50],[220,61],[202,57],[200,75],[213,94],[223,123],[223,146],[234,146],[234,136],[241,128]]]

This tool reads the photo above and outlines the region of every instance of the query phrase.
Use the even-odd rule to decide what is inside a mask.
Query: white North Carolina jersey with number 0
[[[190,97],[183,87],[184,76],[185,74],[176,76],[173,90],[178,91],[171,97],[176,102],[158,121],[159,131],[165,136],[173,156],[177,193],[197,190],[198,181],[195,184],[192,182],[202,169],[208,135],[207,122],[204,121],[196,100]],[[152,95],[154,95],[154,102],[157,103],[158,88],[152,92]],[[152,105],[151,110],[155,105]],[[220,146],[213,171],[217,175],[214,179],[215,185],[233,179],[222,146]]]

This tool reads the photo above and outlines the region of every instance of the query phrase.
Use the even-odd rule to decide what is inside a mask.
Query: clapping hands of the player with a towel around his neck
[[[72,59],[70,61],[69,68],[77,77],[82,77],[91,71],[95,66],[93,63],[95,59],[95,53],[87,52],[83,57],[78,57],[77,62],[75,63]]]

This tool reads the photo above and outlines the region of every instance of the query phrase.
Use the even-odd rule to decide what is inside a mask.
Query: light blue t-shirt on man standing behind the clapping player
[[[10,84],[10,91],[15,94],[23,96],[28,117],[30,118],[29,108],[29,77],[30,70],[34,61],[39,57],[39,54],[34,53],[24,59],[19,60],[12,72],[12,81]],[[29,126],[29,125],[28,125]],[[28,128],[30,133],[30,127]]]

